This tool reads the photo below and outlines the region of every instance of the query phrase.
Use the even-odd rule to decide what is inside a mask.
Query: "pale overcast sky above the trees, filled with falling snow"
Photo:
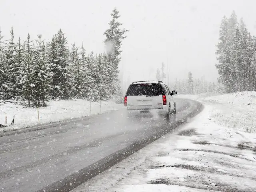
[[[222,17],[235,10],[256,34],[255,0],[0,0],[0,27],[5,40],[11,26],[16,40],[25,40],[28,32],[48,40],[62,28],[70,46],[84,41],[87,52],[100,53],[114,6],[130,30],[122,46],[124,80],[154,80],[164,62],[170,81],[186,78],[189,70],[194,78],[216,81],[214,52]]]

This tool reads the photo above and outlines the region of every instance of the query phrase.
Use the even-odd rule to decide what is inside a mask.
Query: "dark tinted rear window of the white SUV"
[[[164,94],[161,84],[131,84],[126,92],[126,96],[138,95],[162,95]]]

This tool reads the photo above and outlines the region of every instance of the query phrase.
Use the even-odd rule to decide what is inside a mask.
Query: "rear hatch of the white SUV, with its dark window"
[[[131,84],[126,92],[130,110],[161,109],[163,89],[159,83]]]

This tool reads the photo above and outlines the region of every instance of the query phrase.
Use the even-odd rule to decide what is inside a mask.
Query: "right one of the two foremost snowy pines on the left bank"
[[[34,104],[39,106],[46,106],[46,101],[50,99],[50,89],[52,74],[50,73],[50,64],[48,63],[46,47],[42,41],[42,35],[38,35],[36,40],[37,46],[33,58],[33,76],[32,82],[34,84],[32,92],[32,100]]]

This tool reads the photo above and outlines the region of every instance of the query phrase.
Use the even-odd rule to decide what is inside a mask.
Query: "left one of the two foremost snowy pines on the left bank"
[[[34,66],[33,66],[33,57],[34,50],[32,46],[32,41],[30,40],[30,34],[27,36],[27,40],[25,41],[26,45],[24,48],[24,60],[22,66],[24,66],[24,71],[21,76],[19,76],[19,82],[22,86],[22,97],[28,101],[28,106],[30,106],[31,101],[33,100],[33,76],[34,76]]]

